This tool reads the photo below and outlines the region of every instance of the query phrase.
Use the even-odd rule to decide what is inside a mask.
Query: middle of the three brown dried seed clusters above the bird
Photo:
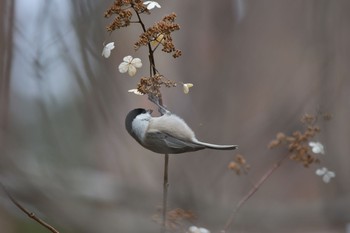
[[[135,43],[135,49],[139,49],[141,46],[146,46],[151,42],[158,41],[161,38],[160,43],[163,46],[162,51],[166,53],[172,53],[174,58],[181,56],[181,51],[175,48],[171,33],[180,29],[180,26],[175,23],[176,14],[171,13],[165,16],[161,21],[156,22],[152,27],[149,27],[139,37],[139,40]]]

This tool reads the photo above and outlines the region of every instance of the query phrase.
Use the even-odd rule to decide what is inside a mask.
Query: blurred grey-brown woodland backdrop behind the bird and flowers
[[[163,155],[124,129],[130,94],[148,74],[147,51],[133,50],[137,25],[112,33],[112,0],[0,1],[0,181],[26,208],[61,232],[157,232]],[[238,144],[251,169],[227,168],[236,152],[170,156],[169,209],[184,223],[223,228],[236,203],[283,156],[277,132],[301,129],[305,113],[328,112],[315,140],[322,163],[286,161],[239,212],[232,232],[346,232],[350,222],[350,2],[346,0],[159,1],[148,26],[176,12],[183,56],[156,53],[160,72],[191,82],[164,89],[165,104],[200,140]],[[109,59],[103,43],[115,41]],[[142,59],[134,78],[118,72],[126,55]],[[336,178],[325,184],[315,170]],[[0,190],[1,232],[48,232]],[[348,228],[349,225],[348,225]],[[348,229],[347,232],[350,230]]]

